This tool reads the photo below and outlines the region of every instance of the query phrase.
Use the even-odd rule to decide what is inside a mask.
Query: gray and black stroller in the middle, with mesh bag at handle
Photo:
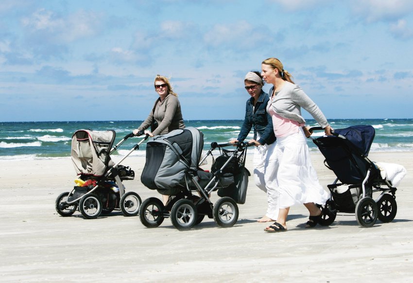
[[[213,142],[200,160],[203,146],[203,134],[194,127],[174,130],[147,142],[141,182],[170,197],[166,206],[156,197],[142,203],[139,218],[143,225],[155,228],[168,217],[178,230],[189,230],[205,216],[221,227],[231,227],[237,222],[237,203],[245,202],[250,176],[244,167],[248,145],[242,143],[236,150],[225,150],[223,147],[233,144]],[[199,168],[216,148],[222,155],[214,159],[211,172]],[[210,194],[214,191],[221,198],[212,204]]]

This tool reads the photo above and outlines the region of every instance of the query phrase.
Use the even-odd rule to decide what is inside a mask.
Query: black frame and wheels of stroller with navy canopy
[[[357,127],[359,126],[353,126],[347,129]],[[321,127],[313,127],[310,128],[310,132],[322,129],[323,128]],[[374,128],[371,127],[370,130],[373,132],[374,138]],[[352,164],[357,164],[354,168],[359,176],[362,177],[362,181],[357,182],[352,180],[351,177],[346,180],[346,177],[340,176],[346,180],[346,182],[342,181],[342,183],[339,183],[341,180],[340,177],[337,177],[332,184],[327,185],[331,195],[325,205],[318,205],[322,209],[322,217],[318,223],[323,226],[332,224],[336,218],[337,212],[355,213],[357,223],[365,228],[374,226],[377,219],[383,223],[391,222],[396,217],[397,213],[397,189],[393,187],[390,180],[383,179],[380,176],[380,170],[374,162],[368,159],[367,154],[370,146],[367,146],[364,152],[362,152],[360,147],[355,146],[346,137],[339,134],[340,130],[336,131],[337,132],[331,132],[334,137],[321,137],[317,139],[310,137],[310,139],[312,139],[326,157],[326,160],[324,161],[326,167],[334,171],[336,175],[338,175],[336,173],[337,169],[328,165],[328,161],[330,160],[328,160],[328,157],[326,156],[327,154],[323,152],[322,149],[326,146],[324,144],[325,141],[328,141],[329,139],[340,139],[337,141],[342,142],[344,148],[346,147],[345,149],[349,152],[349,159],[351,159],[350,161]],[[371,142],[372,141],[373,139],[371,139]],[[363,169],[363,165],[365,166],[365,169]],[[342,185],[348,185],[348,189],[340,194],[336,192],[336,189]],[[353,193],[351,191],[353,191]],[[374,193],[380,194],[373,199]],[[355,205],[355,207],[352,206],[352,204]]]

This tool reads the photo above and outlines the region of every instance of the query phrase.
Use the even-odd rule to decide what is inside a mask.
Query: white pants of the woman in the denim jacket
[[[254,180],[256,186],[267,193],[267,212],[265,216],[276,220],[279,212],[279,192],[276,190],[276,171],[274,170],[275,142],[272,144],[258,145],[254,151]]]

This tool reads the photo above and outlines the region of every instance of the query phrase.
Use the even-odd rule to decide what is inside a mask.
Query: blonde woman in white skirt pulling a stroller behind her
[[[286,231],[287,215],[295,204],[306,206],[310,212],[306,227],[314,227],[321,217],[321,210],[315,204],[325,204],[329,193],[320,185],[311,164],[306,141],[310,133],[305,128],[301,107],[324,128],[326,135],[331,135],[331,127],[320,108],[294,84],[291,74],[283,69],[278,59],[264,60],[261,69],[265,82],[273,84],[269,91],[267,112],[272,117],[277,139],[274,158],[276,180],[273,184],[279,193],[280,208],[276,222],[264,230]]]

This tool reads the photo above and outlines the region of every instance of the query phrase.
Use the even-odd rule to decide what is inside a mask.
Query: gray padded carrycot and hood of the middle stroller
[[[203,134],[194,127],[155,136],[146,143],[141,182],[152,190],[183,188],[185,171],[198,168],[203,147]]]

